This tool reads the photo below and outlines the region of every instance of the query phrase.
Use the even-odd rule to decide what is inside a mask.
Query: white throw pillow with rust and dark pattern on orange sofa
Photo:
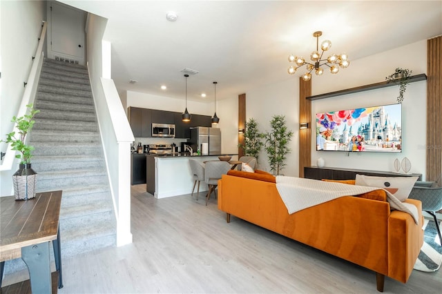
[[[372,177],[369,175],[356,175],[355,184],[384,188],[403,202],[408,198],[418,177]]]

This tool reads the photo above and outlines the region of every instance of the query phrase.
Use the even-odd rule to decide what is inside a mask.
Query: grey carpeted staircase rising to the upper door
[[[63,190],[62,258],[116,244],[116,222],[88,71],[44,61],[29,135],[37,191]]]

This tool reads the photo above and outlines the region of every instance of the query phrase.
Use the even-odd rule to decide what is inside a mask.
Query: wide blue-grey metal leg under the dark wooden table
[[[21,259],[28,266],[32,293],[52,293],[49,242],[22,247]]]

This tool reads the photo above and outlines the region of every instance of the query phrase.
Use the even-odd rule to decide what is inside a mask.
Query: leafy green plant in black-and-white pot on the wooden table
[[[12,175],[16,200],[26,200],[35,197],[35,190],[37,188],[37,173],[32,170],[30,163],[34,147],[26,144],[26,135],[32,129],[35,123],[33,118],[40,110],[35,110],[32,104],[28,104],[26,107],[28,108],[28,115],[23,115],[23,117],[14,116],[11,120],[15,123],[18,132],[13,131],[7,134],[6,140],[4,140],[4,142],[11,144],[12,150],[21,153],[15,155],[16,158],[20,159],[20,164],[19,170]]]

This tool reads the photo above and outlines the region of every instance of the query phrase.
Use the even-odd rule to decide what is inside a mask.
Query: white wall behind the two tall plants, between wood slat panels
[[[258,122],[262,133],[269,132],[270,121],[274,115],[284,115],[287,128],[294,133],[289,142],[291,153],[287,155],[284,169],[280,174],[297,177],[299,150],[299,83],[298,78],[289,77],[277,84],[249,90],[246,93],[246,121],[251,117]],[[270,173],[267,153],[264,148],[258,156],[258,168]]]

